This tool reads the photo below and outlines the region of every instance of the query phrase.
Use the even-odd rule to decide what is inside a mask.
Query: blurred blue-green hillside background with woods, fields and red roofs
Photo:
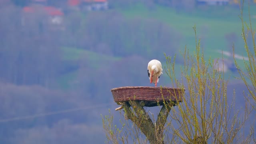
[[[256,0],[246,0],[253,27]],[[247,90],[234,67],[247,60],[238,0],[0,0],[0,143],[102,144],[111,88],[154,86],[147,64],[201,40],[206,59],[222,59],[228,95]],[[252,38],[248,35],[249,48]],[[172,84],[167,74],[158,86]]]

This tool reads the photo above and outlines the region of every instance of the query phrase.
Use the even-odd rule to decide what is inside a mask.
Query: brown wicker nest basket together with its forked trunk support
[[[150,144],[164,144],[164,125],[172,106],[182,102],[185,89],[149,86],[112,88],[114,102],[124,108],[124,118],[130,119],[145,134]],[[162,106],[156,122],[152,122],[144,106]]]

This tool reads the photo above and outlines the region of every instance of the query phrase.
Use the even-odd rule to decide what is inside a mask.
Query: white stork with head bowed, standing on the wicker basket
[[[162,64],[158,60],[151,60],[148,63],[148,77],[150,79],[150,84],[153,82],[155,84],[158,83],[160,75],[162,74]]]

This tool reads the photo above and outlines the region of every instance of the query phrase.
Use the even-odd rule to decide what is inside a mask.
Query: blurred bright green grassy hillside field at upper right
[[[210,7],[207,10],[197,9],[192,12],[177,13],[174,9],[156,6],[154,10],[149,10],[142,4],[138,4],[133,8],[120,10],[127,18],[154,18],[169,24],[178,30],[184,36],[184,42],[180,44],[180,48],[192,49],[195,46],[195,36],[193,26],[196,25],[197,36],[202,38],[204,51],[206,56],[219,57],[216,50],[230,50],[227,48],[225,36],[234,32],[238,37],[236,42],[239,49],[236,51],[240,54],[246,54],[240,48],[243,46],[241,37],[241,21],[239,18],[239,7]],[[256,6],[250,6],[251,15],[256,15]],[[248,21],[248,8],[244,8],[244,18]],[[256,18],[252,19],[256,24]],[[255,27],[255,26],[254,26]]]

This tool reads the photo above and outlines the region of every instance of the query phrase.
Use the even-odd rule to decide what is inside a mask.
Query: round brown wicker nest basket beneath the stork
[[[182,102],[184,90],[181,88],[168,87],[150,87],[150,86],[126,86],[113,88],[110,91],[113,94],[114,102],[122,104],[129,100],[144,101],[145,106],[163,105],[163,101]]]

